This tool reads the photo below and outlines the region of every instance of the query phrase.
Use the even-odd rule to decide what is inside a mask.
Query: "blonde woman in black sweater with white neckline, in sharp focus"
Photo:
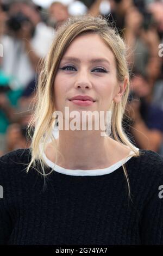
[[[126,46],[115,29],[100,16],[68,19],[42,68],[31,147],[1,157],[1,244],[163,243],[163,159],[123,132],[129,91]],[[79,117],[104,112],[106,127],[111,111],[111,133],[59,128],[55,139],[55,111],[59,124],[72,121],[65,107]]]

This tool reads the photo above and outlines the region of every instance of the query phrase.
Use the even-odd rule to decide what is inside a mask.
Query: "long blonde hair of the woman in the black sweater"
[[[67,47],[71,44],[74,38],[83,33],[98,34],[114,54],[117,65],[117,80],[123,82],[125,77],[128,78],[126,91],[122,96],[121,102],[114,102],[111,107],[112,137],[117,142],[127,145],[131,150],[133,150],[133,156],[137,157],[140,155],[140,152],[136,150],[122,127],[122,119],[130,92],[129,71],[126,60],[126,45],[117,30],[111,27],[111,23],[109,26],[108,22],[101,15],[98,17],[83,15],[79,17],[70,17],[64,25],[58,29],[51,49],[48,52],[48,56],[45,61],[42,62],[41,73],[37,83],[34,114],[28,125],[28,133],[31,138],[30,153],[32,155],[32,159],[28,164],[27,172],[32,164],[36,167],[36,161],[41,164],[42,173],[39,172],[39,170],[37,171],[43,174],[43,176],[46,176],[53,171],[52,169],[51,172],[46,174],[45,167],[47,164],[42,156],[42,153],[45,152],[49,138],[51,138],[55,149],[58,151],[57,142],[52,135],[53,122],[55,121],[55,118],[52,118],[53,112],[55,111],[53,83],[60,60],[62,56],[64,56]],[[34,133],[32,137],[30,136],[30,132],[33,128]],[[42,145],[42,148],[40,148],[40,145]],[[130,193],[129,179],[124,164],[123,170]]]

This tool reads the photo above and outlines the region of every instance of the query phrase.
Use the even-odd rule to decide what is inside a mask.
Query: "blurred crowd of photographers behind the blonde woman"
[[[39,63],[69,16],[102,15],[128,46],[131,93],[124,130],[163,155],[163,1],[0,0],[0,156],[28,148]]]

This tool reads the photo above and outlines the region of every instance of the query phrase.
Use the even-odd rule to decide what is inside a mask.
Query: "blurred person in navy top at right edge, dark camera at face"
[[[141,149],[160,153],[163,142],[163,111],[149,101],[151,90],[148,76],[135,71],[131,77],[131,93],[126,107],[126,113],[131,119],[128,132]]]

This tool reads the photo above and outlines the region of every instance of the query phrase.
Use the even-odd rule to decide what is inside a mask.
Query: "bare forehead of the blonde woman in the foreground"
[[[103,39],[97,34],[79,35],[68,46],[64,56],[77,57],[80,60],[105,58],[110,64],[115,64],[115,57]]]

